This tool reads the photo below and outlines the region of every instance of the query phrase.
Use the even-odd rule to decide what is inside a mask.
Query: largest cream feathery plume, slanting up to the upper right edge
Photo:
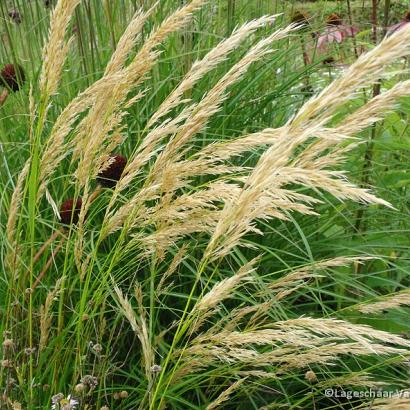
[[[292,157],[295,148],[308,141],[312,136],[319,134],[323,138],[325,134],[323,126],[329,121],[335,110],[345,103],[360,86],[380,78],[384,71],[384,65],[390,62],[393,56],[398,58],[409,53],[410,27],[403,29],[400,33],[385,39],[369,53],[361,56],[344,75],[325,88],[318,96],[305,103],[295,117],[289,120],[286,126],[279,129],[279,132],[273,130],[275,140],[260,157],[258,165],[247,178],[243,192],[235,201],[225,204],[222,211],[223,217],[219,220],[217,229],[208,243],[207,255],[221,257],[229,252],[233,246],[240,242],[240,238],[246,232],[255,232],[253,225],[255,219],[280,217],[281,215],[282,218],[286,218],[279,207],[278,212],[276,212],[276,209],[272,209],[272,201],[268,202],[265,198],[267,195],[275,197],[279,194],[280,190],[273,189],[273,187],[281,185],[279,182],[281,175],[285,179],[290,177],[287,175],[288,171],[293,174],[289,182],[290,180],[292,183],[299,181],[305,186],[320,187],[320,189],[328,190],[332,195],[341,199],[389,206],[386,201],[348,183],[343,173],[323,170],[323,165],[320,162],[315,171],[313,171],[310,162],[309,165],[306,163],[306,168],[297,169]],[[334,95],[338,95],[338,98],[335,99]],[[377,106],[378,102],[383,101],[383,104],[388,104],[391,96],[392,94],[388,93],[385,100],[381,97],[374,104]],[[313,119],[315,120],[313,121]],[[331,130],[328,129],[327,134],[330,132]],[[336,159],[334,158],[333,161],[336,162]],[[285,166],[287,162],[290,162],[290,168]],[[304,208],[302,212],[306,211],[308,208]]]

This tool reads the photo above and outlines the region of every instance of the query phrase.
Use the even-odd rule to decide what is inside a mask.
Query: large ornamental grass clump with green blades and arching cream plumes
[[[393,208],[349,180],[343,164],[363,142],[360,133],[410,96],[410,81],[401,81],[367,102],[358,98],[410,53],[410,28],[362,55],[279,126],[221,139],[207,131],[224,116],[232,90],[275,56],[297,25],[272,28],[277,16],[263,16],[237,27],[203,51],[150,112],[144,99],[155,92],[149,81],[167,41],[206,2],[192,0],[152,26],[154,4],[135,12],[100,78],[61,107],[55,96],[63,92],[66,35],[80,3],[59,0],[52,13],[33,84],[39,98],[30,104],[30,153],[8,201],[11,307],[4,326],[13,340],[40,348],[16,366],[21,386],[7,393],[33,409],[71,402],[103,408],[116,399],[124,408],[250,408],[288,406],[293,398],[276,392],[297,385],[306,394],[295,393],[295,408],[312,394],[325,408],[327,384],[386,382],[370,372],[387,361],[404,366],[409,340],[340,318],[348,306],[298,309],[299,292],[328,297],[320,283],[337,286],[332,273],[353,272],[370,258],[312,255],[276,270],[264,265],[263,247],[252,238],[276,235],[276,224],[290,226],[298,215],[313,220],[327,201]],[[201,82],[207,88],[198,96],[192,91]],[[141,106],[149,115],[135,137],[129,119],[135,111],[143,117]],[[119,151],[127,157],[112,154]],[[241,161],[247,155],[254,162]],[[94,202],[95,180],[111,189]],[[63,230],[64,241],[39,272],[34,250],[47,236],[38,228],[55,220],[53,198],[67,187],[78,199],[64,201],[59,215],[75,229]],[[64,258],[56,258],[63,243]],[[40,282],[42,289],[25,292]],[[386,303],[405,305],[406,297]],[[305,380],[308,371],[315,383]],[[50,380],[49,390],[34,387]],[[87,394],[77,399],[68,393],[79,381]]]

